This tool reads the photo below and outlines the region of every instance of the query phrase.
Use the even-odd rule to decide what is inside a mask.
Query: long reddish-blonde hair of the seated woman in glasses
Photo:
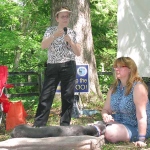
[[[145,86],[145,88],[148,90],[147,85],[144,83],[143,79],[138,74],[138,69],[137,69],[137,66],[136,66],[133,59],[131,59],[130,57],[117,58],[114,61],[113,67],[115,68],[118,65],[119,66],[126,66],[130,69],[129,78],[128,78],[127,84],[126,84],[125,95],[128,95],[130,93],[134,82],[141,82]],[[111,86],[112,93],[116,92],[116,89],[117,89],[117,86],[118,86],[119,83],[120,83],[120,79],[115,78],[114,83]]]

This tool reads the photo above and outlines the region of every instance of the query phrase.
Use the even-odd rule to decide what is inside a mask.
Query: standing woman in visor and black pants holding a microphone
[[[47,28],[41,43],[42,49],[48,49],[48,60],[33,125],[36,127],[46,126],[59,82],[62,102],[60,125],[70,125],[76,80],[75,56],[81,53],[75,31],[68,28],[70,15],[68,7],[58,8],[55,13],[58,25]]]

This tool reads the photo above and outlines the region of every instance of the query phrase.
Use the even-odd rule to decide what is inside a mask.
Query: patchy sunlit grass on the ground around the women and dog
[[[18,100],[18,99],[16,99]],[[14,101],[16,101],[14,100]],[[37,97],[32,97],[28,99],[22,99],[22,102],[24,103],[24,107],[27,111],[27,124],[32,125],[34,121],[34,115],[35,111],[37,108],[38,104],[38,98]],[[94,110],[99,110],[101,111],[103,102],[96,102],[96,103],[84,103],[84,108],[85,109],[94,109]],[[82,104],[83,104],[82,103]],[[49,120],[47,125],[59,125],[59,120],[60,120],[60,108],[61,108],[61,103],[59,99],[54,100],[54,104],[51,109],[51,113],[49,116]],[[100,114],[95,114],[92,116],[81,116],[79,118],[72,118],[71,124],[73,125],[86,125],[89,123],[93,123],[95,121],[102,120],[102,117]],[[10,133],[11,131],[6,131],[5,126],[2,123],[0,125],[0,141],[4,141],[10,138]],[[147,140],[147,147],[145,149],[150,148],[150,139]],[[120,142],[117,144],[112,144],[112,143],[107,143],[102,147],[102,150],[140,150],[140,148],[135,148],[133,147],[132,143],[127,143],[127,142]],[[144,149],[141,149],[144,150]]]

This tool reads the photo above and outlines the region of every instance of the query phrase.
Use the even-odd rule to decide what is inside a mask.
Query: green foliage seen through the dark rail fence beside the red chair
[[[30,73],[17,73],[17,74],[9,74],[9,78],[7,80],[7,83],[13,84],[13,88],[7,89],[9,94],[18,94],[23,95],[26,94],[26,97],[29,96],[29,94],[35,94],[39,95],[40,89],[41,89],[41,74],[37,74],[34,72]],[[14,96],[14,95],[12,95]],[[25,96],[25,95],[24,95]]]

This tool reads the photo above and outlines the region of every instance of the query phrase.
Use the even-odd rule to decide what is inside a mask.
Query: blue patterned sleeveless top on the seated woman
[[[121,88],[120,84],[117,86],[115,93],[111,95],[111,109],[113,111],[114,120],[131,126],[138,126],[136,118],[136,108],[133,101],[134,86],[139,82],[134,82],[129,95],[125,95],[125,87]],[[141,99],[142,100],[142,99]],[[147,107],[147,124],[150,124],[150,102],[148,100]]]

